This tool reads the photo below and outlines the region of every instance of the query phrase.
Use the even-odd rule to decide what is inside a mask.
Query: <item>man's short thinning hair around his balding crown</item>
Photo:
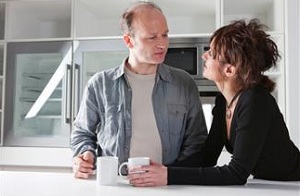
[[[120,26],[121,26],[121,30],[123,33],[133,34],[132,21],[133,21],[133,18],[135,16],[137,10],[142,7],[153,8],[153,9],[157,9],[158,11],[162,12],[161,8],[153,2],[137,1],[137,2],[133,3],[122,14],[122,18],[120,20]]]

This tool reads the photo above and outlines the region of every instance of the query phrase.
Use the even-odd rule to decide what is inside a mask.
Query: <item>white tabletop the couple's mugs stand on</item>
[[[97,195],[284,195],[300,196],[300,182],[249,179],[244,186],[164,186],[137,188],[119,177],[117,186],[100,186],[95,177],[75,179],[71,173],[0,171],[0,196],[97,196]]]

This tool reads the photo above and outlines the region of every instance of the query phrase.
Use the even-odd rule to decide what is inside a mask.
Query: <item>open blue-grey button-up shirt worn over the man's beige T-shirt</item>
[[[132,92],[124,75],[124,62],[88,81],[71,134],[74,156],[90,150],[98,156],[118,156],[120,162],[128,159]],[[152,101],[163,164],[199,151],[207,137],[207,128],[192,77],[159,64]]]

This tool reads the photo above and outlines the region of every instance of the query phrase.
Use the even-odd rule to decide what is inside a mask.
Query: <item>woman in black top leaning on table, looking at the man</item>
[[[262,74],[280,57],[264,28],[257,19],[248,24],[240,20],[212,35],[210,50],[202,55],[203,75],[221,94],[203,150],[168,167],[154,162],[143,166],[145,173],[129,174],[133,186],[243,185],[250,175],[300,180],[299,149],[271,95],[275,83]],[[232,158],[228,165],[215,166],[224,146]]]

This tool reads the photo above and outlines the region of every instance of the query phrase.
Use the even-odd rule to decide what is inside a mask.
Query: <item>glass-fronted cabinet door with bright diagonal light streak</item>
[[[7,44],[5,146],[67,147],[71,42]]]

